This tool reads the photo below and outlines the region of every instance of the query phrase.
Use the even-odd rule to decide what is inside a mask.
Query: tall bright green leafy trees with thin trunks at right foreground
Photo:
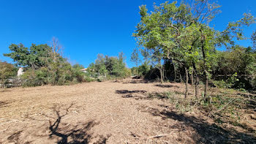
[[[220,7],[211,0],[195,1],[193,4],[181,1],[171,4],[165,2],[159,7],[154,6],[154,12],[148,14],[146,6],[140,7],[140,23],[134,36],[138,43],[149,50],[160,48],[165,58],[181,64],[186,72],[187,96],[187,69],[193,67],[196,77],[195,96],[198,95],[199,75],[203,72],[205,77],[205,93],[207,95],[210,67],[209,59],[214,55],[217,45],[233,42],[236,36],[241,39],[243,29],[254,23],[250,14],[234,23],[229,23],[225,31],[216,31],[209,26]],[[203,69],[199,64],[203,63]],[[201,72],[200,72],[201,70]]]

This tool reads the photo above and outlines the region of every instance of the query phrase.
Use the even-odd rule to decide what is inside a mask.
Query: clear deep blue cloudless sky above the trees
[[[132,32],[140,21],[139,6],[162,0],[0,0],[0,60],[12,62],[3,56],[12,43],[49,43],[57,37],[64,46],[64,56],[72,64],[88,67],[98,53],[118,56],[124,52],[127,66],[132,49],[136,48]],[[170,1],[171,2],[171,1]],[[256,0],[219,0],[222,13],[211,22],[223,30],[229,21],[238,20],[244,12],[256,16]],[[245,29],[247,37],[256,30],[253,25]],[[249,46],[249,40],[239,42]]]

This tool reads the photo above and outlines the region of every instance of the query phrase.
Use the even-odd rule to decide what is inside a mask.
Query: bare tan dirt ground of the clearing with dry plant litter
[[[0,143],[256,143],[246,132],[146,96],[163,91],[181,94],[184,84],[126,80],[7,88],[0,91]]]

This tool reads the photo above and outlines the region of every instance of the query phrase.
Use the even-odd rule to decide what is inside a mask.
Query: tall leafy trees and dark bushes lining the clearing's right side
[[[227,23],[225,30],[218,31],[210,26],[210,22],[219,14],[219,7],[211,0],[194,1],[192,4],[166,1],[159,6],[154,5],[152,12],[148,12],[145,5],[140,7],[140,23],[133,36],[141,47],[140,52],[145,59],[143,64],[148,59],[153,61],[155,68],[159,69],[161,83],[164,79],[184,81],[185,97],[188,96],[189,81],[195,85],[196,97],[199,96],[198,85],[203,82],[205,98],[208,97],[209,84],[255,88],[255,32],[251,47],[237,44],[238,40],[247,39],[244,26],[254,24],[255,17],[244,13],[243,18]],[[137,65],[137,71],[140,68],[138,51],[133,51],[131,59]]]

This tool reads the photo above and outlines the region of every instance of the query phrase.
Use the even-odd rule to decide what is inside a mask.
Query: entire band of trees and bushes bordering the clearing
[[[243,26],[255,23],[255,18],[244,14],[240,20],[227,23],[226,29],[218,31],[210,22],[219,14],[219,5],[211,0],[166,1],[154,11],[140,7],[140,22],[133,36],[140,49],[134,49],[130,58],[136,67],[128,69],[124,53],[118,57],[99,54],[86,72],[80,64],[72,66],[61,56],[57,39],[50,45],[34,45],[26,48],[19,44],[10,45],[10,57],[15,66],[24,67],[25,86],[45,84],[63,85],[91,80],[105,80],[112,77],[138,75],[149,80],[173,80],[195,85],[203,82],[207,96],[208,83],[225,88],[255,89],[256,85],[256,31],[252,32],[252,47],[237,45],[246,39]],[[217,48],[227,50],[219,51]],[[143,61],[140,60],[140,54]],[[8,68],[10,69],[10,68]],[[5,77],[5,76],[2,76]],[[187,95],[186,91],[186,95]]]

